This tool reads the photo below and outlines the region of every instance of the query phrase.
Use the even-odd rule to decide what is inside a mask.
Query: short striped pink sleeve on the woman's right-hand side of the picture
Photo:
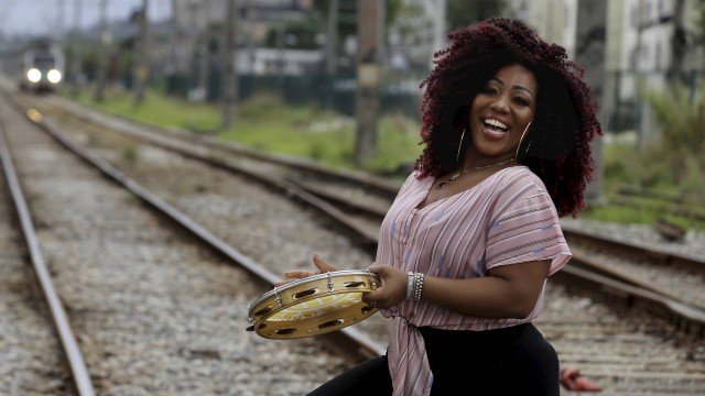
[[[486,271],[551,260],[549,275],[553,275],[571,256],[555,206],[542,186],[513,183],[500,193],[487,231]]]

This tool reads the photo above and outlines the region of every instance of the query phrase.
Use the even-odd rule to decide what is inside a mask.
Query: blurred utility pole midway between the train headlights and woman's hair
[[[237,25],[240,8],[238,0],[228,0],[227,14],[225,20],[225,48],[223,65],[225,74],[223,76],[223,122],[224,130],[232,125],[237,114],[238,102],[238,74],[237,74]]]

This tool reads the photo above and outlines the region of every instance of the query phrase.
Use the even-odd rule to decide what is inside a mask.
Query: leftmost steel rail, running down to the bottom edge
[[[2,168],[4,169],[6,180],[22,227],[22,234],[24,235],[24,241],[30,252],[30,260],[32,261],[34,273],[40,283],[44,299],[50,307],[52,320],[68,361],[72,377],[76,385],[76,391],[82,396],[93,396],[96,392],[90,381],[90,374],[88,373],[86,362],[68,322],[66,310],[61,302],[58,294],[52,283],[50,272],[46,267],[46,262],[44,261],[44,255],[42,254],[40,242],[36,238],[34,223],[32,222],[30,209],[26,205],[26,200],[24,199],[24,194],[22,193],[22,187],[20,186],[20,182],[14,169],[4,133],[4,121],[0,120],[0,157],[2,161]]]

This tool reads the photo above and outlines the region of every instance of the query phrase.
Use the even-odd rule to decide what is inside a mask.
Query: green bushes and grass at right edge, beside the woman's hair
[[[605,145],[605,193],[619,198],[620,186],[633,185],[677,196],[705,196],[705,100],[703,88],[670,85],[664,91],[648,91],[660,136],[638,148],[631,142]],[[668,204],[668,205],[666,205]],[[640,208],[596,206],[585,218],[630,223],[653,223],[665,219],[682,227],[703,230],[705,223],[687,216],[674,216],[669,208],[702,210],[674,202],[642,198]],[[669,215],[671,213],[671,215]]]

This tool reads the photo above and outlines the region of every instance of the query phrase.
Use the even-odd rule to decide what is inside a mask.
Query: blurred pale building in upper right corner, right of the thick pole
[[[643,100],[647,89],[662,90],[675,69],[692,89],[703,79],[703,46],[695,44],[699,0],[610,0],[604,106],[611,130],[636,130],[649,138],[658,131]],[[680,13],[677,4],[682,3]],[[676,28],[685,33],[685,54],[674,56]],[[680,65],[679,65],[680,64]]]

